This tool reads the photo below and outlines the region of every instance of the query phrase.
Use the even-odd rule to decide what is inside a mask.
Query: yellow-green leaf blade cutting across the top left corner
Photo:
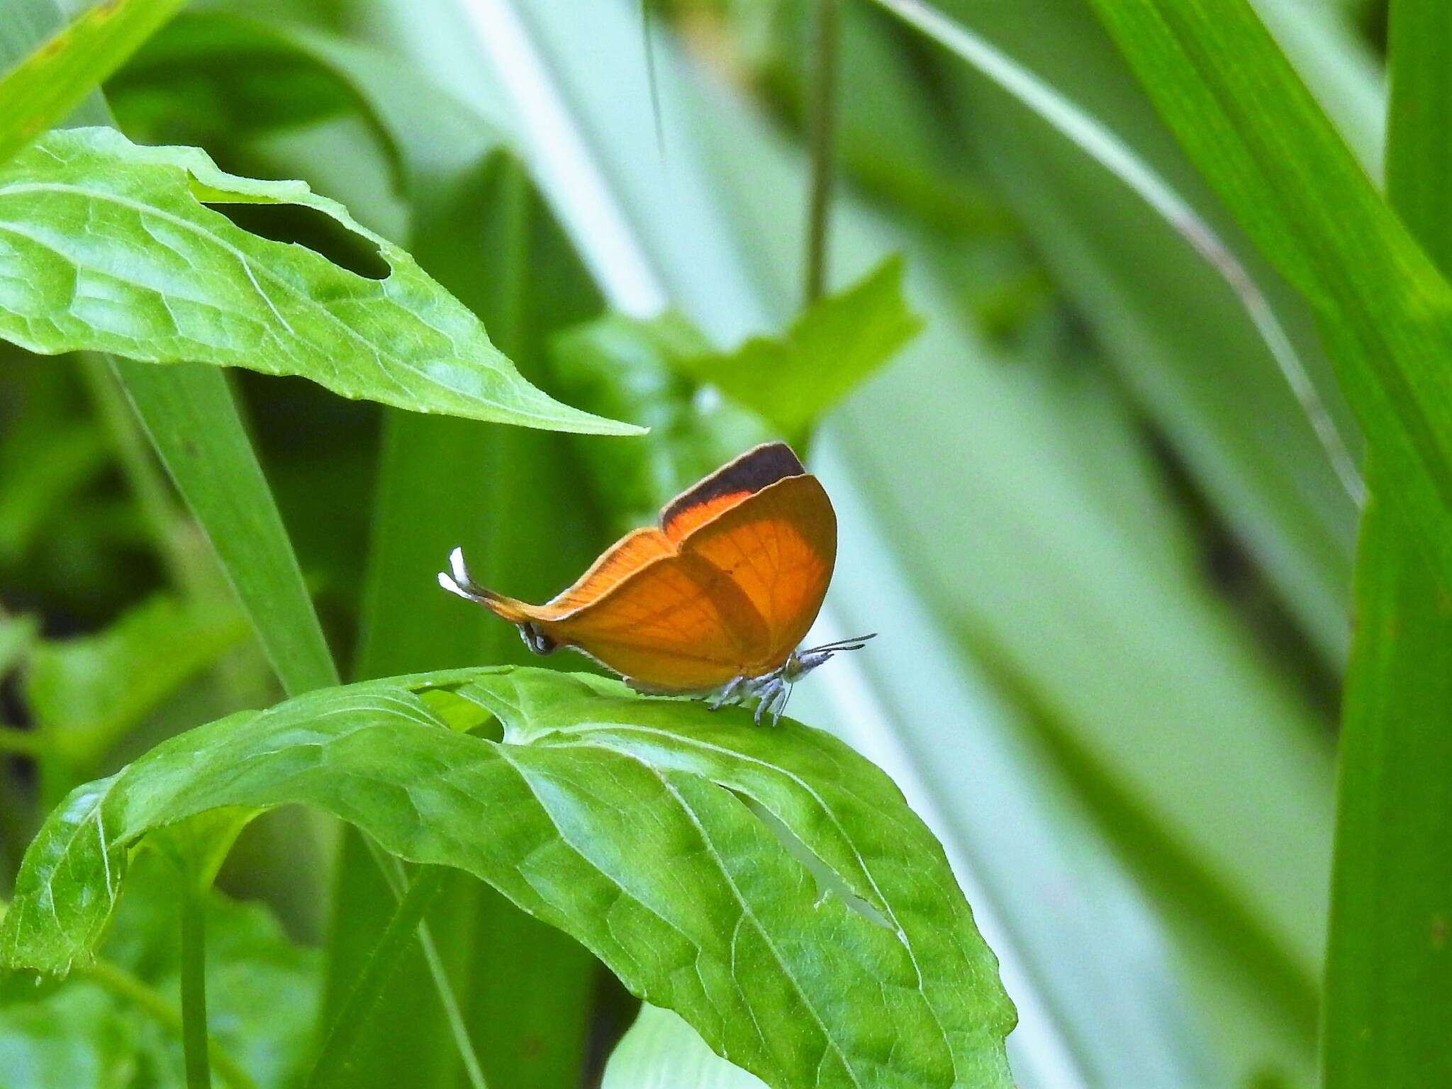
[[[102,0],[0,80],[0,163],[64,121],[186,0]]]

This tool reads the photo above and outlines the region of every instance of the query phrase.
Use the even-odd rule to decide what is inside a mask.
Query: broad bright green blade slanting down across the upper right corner
[[[1452,287],[1246,0],[1093,0],[1166,123],[1310,302],[1384,499],[1452,581]]]

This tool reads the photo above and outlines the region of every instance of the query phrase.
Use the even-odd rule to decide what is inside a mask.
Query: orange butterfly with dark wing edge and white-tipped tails
[[[709,697],[716,710],[755,697],[775,723],[791,685],[871,635],[799,649],[836,563],[836,513],[786,443],[762,443],[627,533],[543,605],[485,590],[463,550],[439,584],[517,624],[526,646],[569,646],[636,691]]]

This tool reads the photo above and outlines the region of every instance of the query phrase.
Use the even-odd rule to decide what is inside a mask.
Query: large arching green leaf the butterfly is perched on
[[[502,741],[431,707],[497,716]],[[0,960],[67,971],[131,845],[211,809],[289,803],[495,884],[777,1089],[1011,1085],[996,961],[886,775],[796,723],[543,669],[363,682],[164,742],[51,815]]]

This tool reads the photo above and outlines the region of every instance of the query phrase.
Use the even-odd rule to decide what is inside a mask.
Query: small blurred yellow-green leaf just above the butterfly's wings
[[[799,443],[922,328],[908,309],[902,282],[902,258],[890,257],[851,287],[815,302],[781,337],[752,337],[735,351],[688,354],[674,363]]]

